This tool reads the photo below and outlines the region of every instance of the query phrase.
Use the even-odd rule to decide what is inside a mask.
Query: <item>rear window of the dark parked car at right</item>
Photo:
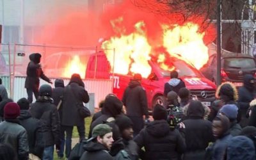
[[[230,68],[254,68],[255,61],[252,58],[225,58],[224,67]]]

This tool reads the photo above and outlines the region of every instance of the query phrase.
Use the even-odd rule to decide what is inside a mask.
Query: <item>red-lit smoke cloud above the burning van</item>
[[[156,6],[155,8],[152,6]],[[100,7],[100,6],[99,6]],[[102,7],[102,6],[101,6]],[[95,10],[67,10],[58,13],[58,19],[45,20],[43,31],[36,33],[36,44],[63,45],[72,47],[93,47],[96,46],[99,38],[108,39],[110,36],[129,34],[134,31],[134,24],[143,20],[145,26],[142,28],[147,33],[150,45],[161,45],[163,31],[161,24],[179,24],[192,21],[201,26],[205,31],[205,44],[212,42],[215,38],[214,26],[202,26],[205,17],[193,16],[184,19],[181,13],[159,13],[159,10],[168,10],[168,4],[159,4],[154,0],[143,1],[125,0],[115,6],[107,6],[99,16]],[[61,11],[61,5],[58,11]],[[46,14],[47,16],[51,16]],[[43,33],[43,34],[42,34]]]

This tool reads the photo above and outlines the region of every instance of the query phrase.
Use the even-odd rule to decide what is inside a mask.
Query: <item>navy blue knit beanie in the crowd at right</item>
[[[234,120],[237,117],[238,108],[237,108],[237,106],[235,104],[225,104],[220,109],[220,113],[223,113],[230,120]]]

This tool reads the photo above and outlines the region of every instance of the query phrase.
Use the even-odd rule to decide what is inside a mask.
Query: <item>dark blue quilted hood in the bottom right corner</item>
[[[231,138],[227,147],[227,160],[255,160],[255,147],[253,141],[246,136]]]

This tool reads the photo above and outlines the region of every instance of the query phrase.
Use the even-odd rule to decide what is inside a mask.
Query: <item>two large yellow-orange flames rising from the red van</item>
[[[122,30],[119,36],[111,36],[109,40],[102,43],[102,49],[106,49],[106,56],[114,67],[114,72],[118,74],[140,73],[147,77],[151,68],[148,60],[156,56],[156,62],[164,70],[174,70],[175,67],[168,65],[168,57],[175,56],[182,60],[192,63],[196,68],[201,68],[208,60],[208,49],[204,44],[204,33],[199,33],[198,25],[188,22],[183,26],[162,24],[162,47],[166,50],[155,52],[155,46],[150,45],[150,39],[147,37],[147,30],[143,21],[137,22],[134,31],[125,34],[124,29],[118,29],[113,26],[115,31]],[[159,46],[157,46],[159,47]],[[113,63],[113,51],[115,49],[115,62]]]

